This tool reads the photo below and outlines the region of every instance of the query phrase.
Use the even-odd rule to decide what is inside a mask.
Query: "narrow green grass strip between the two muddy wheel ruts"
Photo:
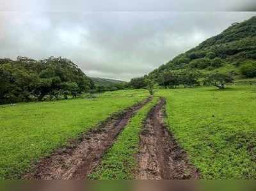
[[[135,154],[139,150],[141,128],[148,112],[158,100],[159,98],[155,97],[131,118],[122,134],[118,135],[113,147],[104,155],[102,163],[93,174],[90,174],[90,179],[131,180],[133,178],[132,171],[136,167]]]

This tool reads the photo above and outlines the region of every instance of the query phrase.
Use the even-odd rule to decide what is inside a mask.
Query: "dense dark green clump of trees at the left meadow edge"
[[[92,80],[62,57],[0,59],[0,103],[76,97],[93,88]]]

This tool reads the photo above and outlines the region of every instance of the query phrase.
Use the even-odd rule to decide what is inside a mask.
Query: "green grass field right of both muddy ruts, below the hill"
[[[206,179],[256,178],[256,86],[159,90],[166,122]]]

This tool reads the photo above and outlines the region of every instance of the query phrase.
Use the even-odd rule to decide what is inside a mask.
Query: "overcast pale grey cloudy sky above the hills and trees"
[[[0,57],[67,57],[88,76],[129,80],[256,15],[240,12],[250,0],[104,2],[0,0]]]

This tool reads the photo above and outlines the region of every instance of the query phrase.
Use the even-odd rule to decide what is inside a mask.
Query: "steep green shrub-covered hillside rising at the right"
[[[240,69],[243,66],[253,70],[248,77],[256,77],[256,16],[232,24],[221,34],[159,66],[148,77],[156,80],[164,71],[189,68],[202,73],[231,72],[241,78],[243,75]],[[246,75],[246,72],[243,74]]]

